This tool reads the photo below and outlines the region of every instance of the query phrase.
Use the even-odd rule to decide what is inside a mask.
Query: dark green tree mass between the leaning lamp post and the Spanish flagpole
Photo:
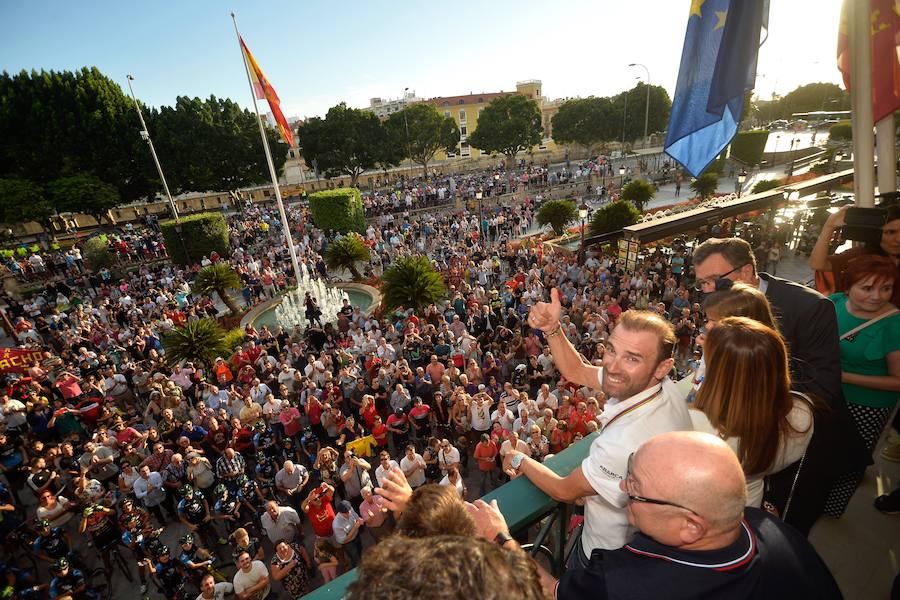
[[[144,112],[172,193],[233,190],[271,181],[256,115],[235,102],[179,96],[175,106]],[[134,135],[137,124],[135,115]],[[271,127],[266,127],[266,138],[275,171],[280,172],[287,147]]]

